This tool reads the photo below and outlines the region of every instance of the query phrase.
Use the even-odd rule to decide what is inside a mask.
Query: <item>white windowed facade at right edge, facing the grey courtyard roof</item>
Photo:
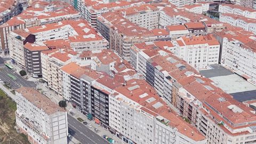
[[[243,41],[223,38],[221,65],[256,85],[255,41],[243,44]],[[254,47],[254,48],[253,48]]]

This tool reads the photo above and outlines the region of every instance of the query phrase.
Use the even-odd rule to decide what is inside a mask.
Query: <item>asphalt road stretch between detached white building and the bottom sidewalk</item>
[[[77,121],[68,114],[68,129],[71,135],[83,144],[109,144],[105,139],[101,138],[97,133],[90,130],[87,125]]]

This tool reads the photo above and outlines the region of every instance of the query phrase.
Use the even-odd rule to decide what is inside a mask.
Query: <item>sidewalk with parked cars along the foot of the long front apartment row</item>
[[[103,135],[107,135],[108,137],[112,138],[115,140],[115,143],[124,143],[121,139],[119,139],[118,137],[116,137],[115,134],[112,134],[110,133],[108,130],[106,130],[105,128],[103,128],[102,126],[100,126],[99,124],[95,123],[93,120],[90,121],[87,119],[87,116],[82,114],[81,112],[78,112],[75,108],[73,108],[72,106],[70,106],[68,104],[67,106],[67,109],[71,109],[71,111],[69,110],[68,113],[70,114],[70,112],[74,113],[72,116],[75,117],[75,118],[82,118],[84,121],[86,121],[88,124],[91,124],[92,125],[92,128],[89,128],[91,129],[93,132],[94,132],[94,129],[98,129],[99,131],[97,132],[98,135],[100,135],[100,137],[103,138]],[[70,114],[71,115],[71,114]],[[86,125],[87,126],[87,125]]]

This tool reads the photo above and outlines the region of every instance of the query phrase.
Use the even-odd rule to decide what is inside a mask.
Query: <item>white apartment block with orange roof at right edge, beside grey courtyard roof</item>
[[[216,33],[216,37],[222,46],[221,65],[255,85],[256,39],[253,33],[234,28]]]

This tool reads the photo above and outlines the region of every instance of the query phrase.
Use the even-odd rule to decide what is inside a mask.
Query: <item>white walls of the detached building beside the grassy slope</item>
[[[40,144],[67,143],[67,112],[48,115],[18,92],[16,96],[16,123],[23,132]]]

